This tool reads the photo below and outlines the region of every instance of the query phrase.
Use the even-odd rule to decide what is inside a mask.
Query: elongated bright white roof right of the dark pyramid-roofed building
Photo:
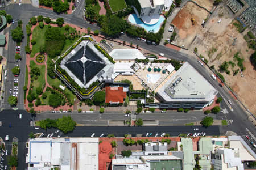
[[[138,49],[113,49],[109,55],[114,60],[135,60],[136,58],[146,58]]]

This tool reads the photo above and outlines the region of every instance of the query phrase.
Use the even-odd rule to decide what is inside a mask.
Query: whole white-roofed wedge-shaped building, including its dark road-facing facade
[[[203,108],[212,103],[218,91],[188,62],[163,85],[158,96],[163,108]]]

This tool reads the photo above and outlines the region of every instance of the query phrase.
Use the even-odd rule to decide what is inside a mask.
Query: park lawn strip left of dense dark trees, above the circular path
[[[44,37],[44,32],[46,32],[46,25],[44,25],[44,28],[40,28],[39,26],[37,26],[33,30],[32,39],[36,40],[36,44],[32,45],[30,57],[34,57],[36,53],[40,52],[40,46],[44,46],[44,42],[46,41],[46,37]]]

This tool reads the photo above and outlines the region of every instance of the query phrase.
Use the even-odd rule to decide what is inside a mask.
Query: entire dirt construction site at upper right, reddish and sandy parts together
[[[201,2],[212,3],[209,0]],[[204,6],[202,3],[200,5]],[[197,53],[207,59],[209,66],[214,65],[216,70],[219,70],[219,66],[223,62],[228,62],[230,73],[221,73],[226,84],[236,93],[251,113],[256,115],[256,71],[249,60],[254,50],[248,48],[247,42],[243,38],[249,30],[246,29],[242,33],[237,31],[233,24],[236,22],[234,14],[225,3],[217,6],[203,28],[201,22],[207,15],[206,10],[188,2],[172,21],[172,24],[177,27],[175,29],[178,35],[174,44],[184,45],[185,48],[189,49],[184,51],[192,56],[195,56],[193,50],[197,48]],[[191,23],[192,17],[196,20],[195,25]],[[237,59],[234,58],[235,54],[243,59],[242,65],[245,70],[233,75],[234,71],[240,69]]]

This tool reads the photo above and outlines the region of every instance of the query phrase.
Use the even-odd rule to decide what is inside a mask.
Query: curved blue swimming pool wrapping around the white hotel
[[[144,29],[146,29],[146,31],[153,30],[155,32],[158,32],[161,27],[161,24],[164,21],[164,16],[160,15],[158,22],[155,23],[154,25],[148,25],[148,24],[143,23],[141,19],[137,18],[136,14],[129,15],[128,20],[129,20],[129,22],[131,22],[133,24],[143,27]]]

